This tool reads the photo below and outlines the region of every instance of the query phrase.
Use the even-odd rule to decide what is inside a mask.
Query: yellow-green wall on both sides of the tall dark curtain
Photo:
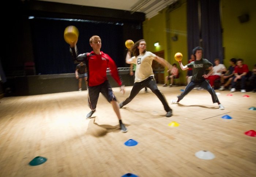
[[[229,59],[241,58],[252,70],[256,64],[256,0],[221,0],[221,20],[223,28],[224,64],[229,67]],[[238,16],[249,14],[249,22],[240,23]],[[178,41],[171,37],[178,35]],[[143,37],[147,42],[147,50],[151,52],[165,51],[165,59],[169,63],[177,63],[174,54],[183,54],[182,63],[187,64],[187,3],[166,12],[162,10],[157,16],[143,23]],[[159,42],[159,47],[154,43]],[[182,71],[181,82],[185,84],[187,71]]]

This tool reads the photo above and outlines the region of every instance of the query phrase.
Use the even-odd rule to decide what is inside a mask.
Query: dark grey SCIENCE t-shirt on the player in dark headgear
[[[206,74],[206,69],[208,69],[211,66],[212,63],[207,59],[195,60],[187,64],[187,67],[192,68],[193,71],[193,76],[191,80],[194,82],[200,82],[205,80],[203,78],[203,75]]]

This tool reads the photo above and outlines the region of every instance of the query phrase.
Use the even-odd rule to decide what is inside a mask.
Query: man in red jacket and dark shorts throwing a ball
[[[107,68],[110,68],[110,73],[114,80],[120,86],[121,91],[124,93],[124,86],[119,78],[118,71],[114,60],[106,53],[101,51],[101,38],[94,35],[90,38],[90,45],[93,51],[90,53],[83,53],[78,55],[78,50],[76,48],[76,43],[78,40],[70,43],[70,52],[74,57],[75,61],[84,62],[87,66],[88,71],[88,105],[91,108],[91,112],[87,114],[87,118],[90,118],[96,111],[96,106],[99,98],[99,93],[110,102],[113,106],[114,112],[116,113],[120,129],[122,132],[127,132],[127,128],[124,126],[121,120],[121,115],[119,111],[119,105],[117,103],[116,97],[113,93],[112,87],[109,84],[107,78]]]

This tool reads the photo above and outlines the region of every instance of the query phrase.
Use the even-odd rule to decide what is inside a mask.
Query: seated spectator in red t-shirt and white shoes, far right
[[[236,91],[236,83],[238,80],[241,80],[241,93],[245,93],[245,76],[249,72],[248,66],[243,63],[243,59],[237,59],[237,65],[235,67],[234,76],[231,82],[231,90],[230,92]]]

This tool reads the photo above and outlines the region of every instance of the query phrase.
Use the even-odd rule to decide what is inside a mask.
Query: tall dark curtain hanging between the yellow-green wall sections
[[[223,60],[219,0],[188,0],[188,52],[201,46],[203,58]],[[200,14],[199,14],[200,12]]]

